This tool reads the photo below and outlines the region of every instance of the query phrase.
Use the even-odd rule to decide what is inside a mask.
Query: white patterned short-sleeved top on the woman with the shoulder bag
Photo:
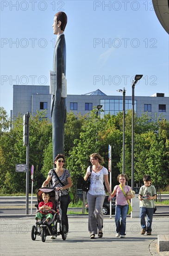
[[[87,169],[87,172],[90,170],[90,166]],[[99,172],[95,173],[92,170],[90,175],[90,189],[88,193],[91,195],[106,195],[104,188],[104,175],[108,175],[108,170],[103,167]]]

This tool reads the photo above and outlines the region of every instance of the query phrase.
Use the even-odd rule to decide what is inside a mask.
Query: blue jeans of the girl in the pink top
[[[120,233],[120,235],[125,235],[127,211],[128,211],[128,204],[116,205],[116,211],[115,211],[116,232]],[[120,222],[120,217],[121,217],[121,222]]]

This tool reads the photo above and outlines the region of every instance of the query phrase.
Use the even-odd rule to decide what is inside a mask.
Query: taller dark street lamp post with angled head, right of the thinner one
[[[134,190],[134,87],[143,74],[136,74],[132,83],[131,189]]]

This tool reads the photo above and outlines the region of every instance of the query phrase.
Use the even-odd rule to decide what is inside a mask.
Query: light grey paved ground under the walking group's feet
[[[140,235],[139,218],[127,217],[126,237],[115,237],[114,218],[104,216],[103,237],[89,239],[88,217],[69,217],[69,234],[65,241],[61,236],[56,240],[46,237],[46,242],[37,236],[31,240],[31,226],[35,224],[32,216],[24,218],[0,219],[0,256],[168,256],[169,252],[158,253],[157,235],[169,234],[169,218],[154,217],[152,236]]]

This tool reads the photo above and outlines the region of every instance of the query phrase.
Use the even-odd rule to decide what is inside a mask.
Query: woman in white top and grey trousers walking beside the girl
[[[108,182],[108,170],[101,164],[104,162],[103,157],[98,153],[90,155],[90,162],[92,163],[92,170],[90,172],[90,166],[87,169],[84,180],[88,179],[90,175],[90,189],[87,193],[88,200],[88,231],[90,232],[90,238],[94,239],[95,234],[98,232],[98,237],[102,237],[103,228],[103,202],[105,199],[105,188],[103,182],[105,182],[106,189],[111,197],[110,185]],[[98,230],[98,231],[97,231]]]

